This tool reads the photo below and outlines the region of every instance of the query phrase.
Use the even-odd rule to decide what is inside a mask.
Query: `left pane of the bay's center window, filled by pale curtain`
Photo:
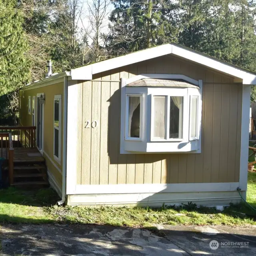
[[[165,138],[165,96],[154,96],[154,138]]]

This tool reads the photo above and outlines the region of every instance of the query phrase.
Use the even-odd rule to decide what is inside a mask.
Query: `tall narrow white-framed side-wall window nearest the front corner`
[[[54,96],[54,145],[53,154],[54,158],[60,161],[60,117],[61,117],[61,95]]]

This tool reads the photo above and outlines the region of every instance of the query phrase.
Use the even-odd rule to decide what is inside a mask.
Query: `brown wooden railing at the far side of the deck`
[[[12,134],[13,148],[36,147],[36,126],[0,126],[1,132]]]

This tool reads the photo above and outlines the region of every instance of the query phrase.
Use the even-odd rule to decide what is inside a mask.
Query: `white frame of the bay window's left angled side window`
[[[132,138],[128,136],[129,133],[129,97],[140,97],[140,138]],[[143,94],[126,94],[126,111],[125,111],[125,140],[142,140],[142,125],[143,125]]]

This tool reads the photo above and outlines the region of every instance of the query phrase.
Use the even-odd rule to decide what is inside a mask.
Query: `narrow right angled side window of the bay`
[[[198,138],[198,96],[190,97],[190,140]]]

